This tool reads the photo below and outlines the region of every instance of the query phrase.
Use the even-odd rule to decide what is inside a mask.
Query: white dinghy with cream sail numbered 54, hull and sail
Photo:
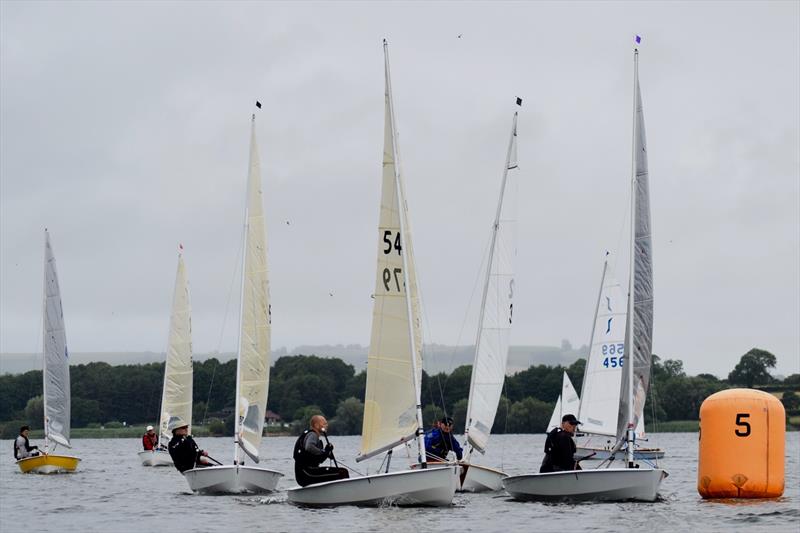
[[[452,503],[458,483],[459,467],[427,468],[425,461],[420,405],[422,337],[419,291],[405,187],[398,160],[389,52],[385,40],[383,51],[386,92],[377,280],[367,359],[361,452],[356,461],[388,452],[386,471],[289,489],[288,500],[295,504],[445,506]],[[389,472],[392,450],[414,438],[421,468]]]

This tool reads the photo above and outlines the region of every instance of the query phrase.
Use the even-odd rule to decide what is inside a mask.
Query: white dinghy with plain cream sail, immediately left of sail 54
[[[241,295],[233,464],[193,468],[184,472],[189,487],[201,493],[271,492],[283,476],[274,470],[244,464],[248,457],[255,463],[259,462],[270,370],[271,309],[267,238],[255,115],[250,131]]]

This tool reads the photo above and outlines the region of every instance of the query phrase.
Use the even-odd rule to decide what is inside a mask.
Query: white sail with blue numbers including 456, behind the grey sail
[[[581,431],[595,435],[616,436],[620,381],[625,365],[626,302],[622,288],[603,265],[600,293],[592,326],[589,357],[583,374],[580,412]]]

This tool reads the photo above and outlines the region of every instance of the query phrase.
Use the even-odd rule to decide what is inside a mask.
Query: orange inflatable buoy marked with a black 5
[[[700,406],[697,491],[703,498],[777,498],[784,488],[786,411],[772,394],[728,389]]]

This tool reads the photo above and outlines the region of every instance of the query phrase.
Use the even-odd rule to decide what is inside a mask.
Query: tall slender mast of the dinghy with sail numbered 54
[[[400,177],[398,176],[397,168],[399,166],[399,161],[397,160],[397,131],[395,129],[395,121],[394,121],[394,101],[392,100],[392,79],[389,71],[389,44],[386,42],[386,39],[383,40],[383,56],[384,56],[384,67],[386,69],[386,94],[389,99],[389,114],[392,118],[392,156],[396,161],[394,165],[394,182],[395,188],[397,190],[397,203],[398,203],[398,215],[400,221],[400,235],[401,237],[401,246],[402,246],[402,257],[403,257],[403,283],[405,284],[405,291],[406,291],[406,313],[408,317],[408,340],[409,344],[411,345],[411,372],[412,372],[412,382],[414,383],[414,396],[417,402],[416,414],[417,414],[417,447],[418,447],[418,462],[422,465],[422,468],[427,468],[427,460],[425,457],[425,442],[422,439],[422,435],[425,433],[424,426],[422,423],[422,401],[421,401],[421,387],[420,383],[417,380],[417,343],[416,339],[414,338],[414,314],[411,309],[411,283],[409,282],[408,276],[408,252],[409,247],[407,246],[406,241],[406,201],[405,197],[403,196],[402,187],[400,186]]]

